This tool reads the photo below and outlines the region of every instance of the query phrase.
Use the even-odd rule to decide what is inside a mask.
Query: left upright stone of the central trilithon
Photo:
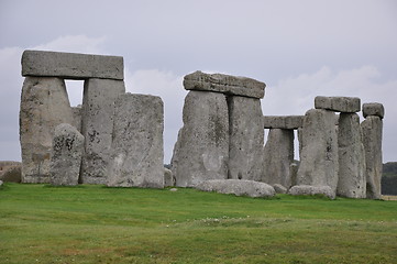
[[[185,98],[184,127],[172,160],[176,186],[225,179],[229,162],[229,117],[222,94],[189,91]]]

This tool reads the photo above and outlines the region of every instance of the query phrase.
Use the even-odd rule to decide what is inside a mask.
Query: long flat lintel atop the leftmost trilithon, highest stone
[[[22,76],[62,77],[69,79],[124,78],[123,57],[77,53],[24,51]]]

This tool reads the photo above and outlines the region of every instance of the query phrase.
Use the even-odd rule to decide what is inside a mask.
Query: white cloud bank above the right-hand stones
[[[379,81],[382,73],[374,66],[332,70],[324,66],[312,74],[301,74],[279,80],[266,88],[262,108],[265,116],[305,114],[315,107],[316,96],[359,97],[363,102],[381,102],[385,107],[384,160],[397,161],[395,131],[397,116],[395,89],[397,80]]]

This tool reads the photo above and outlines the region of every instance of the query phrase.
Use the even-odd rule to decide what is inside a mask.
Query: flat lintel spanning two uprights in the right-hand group
[[[361,100],[356,97],[316,97],[316,109],[326,109],[335,112],[360,112]]]

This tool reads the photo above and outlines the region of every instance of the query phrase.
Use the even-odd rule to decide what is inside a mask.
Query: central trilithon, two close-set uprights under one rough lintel
[[[185,76],[184,127],[172,160],[176,186],[210,179],[260,180],[265,84],[195,72]]]

